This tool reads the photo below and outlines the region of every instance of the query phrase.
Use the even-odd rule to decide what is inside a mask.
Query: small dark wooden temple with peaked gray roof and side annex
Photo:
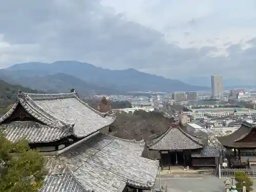
[[[173,165],[216,166],[219,161],[219,150],[207,147],[203,139],[183,131],[180,126],[170,127],[163,135],[148,145],[151,156],[159,155],[163,169]]]

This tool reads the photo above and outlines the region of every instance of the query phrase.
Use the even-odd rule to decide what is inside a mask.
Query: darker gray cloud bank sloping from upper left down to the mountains
[[[256,46],[231,45],[229,57],[211,57],[215,47],[182,49],[156,30],[125,20],[96,0],[0,0],[0,65],[79,60],[110,69],[135,68],[170,78],[255,73]],[[190,21],[196,25],[195,20]],[[186,33],[186,32],[182,32]],[[2,43],[1,43],[2,39]],[[254,47],[255,46],[255,47]],[[249,69],[252,68],[252,69]],[[247,69],[248,68],[248,69]],[[254,73],[252,71],[254,70]],[[243,75],[241,78],[252,78]],[[254,78],[254,76],[253,76]]]

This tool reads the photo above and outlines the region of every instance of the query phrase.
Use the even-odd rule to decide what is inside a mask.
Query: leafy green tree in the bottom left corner
[[[44,184],[45,158],[26,140],[11,143],[0,135],[0,191],[37,192]]]

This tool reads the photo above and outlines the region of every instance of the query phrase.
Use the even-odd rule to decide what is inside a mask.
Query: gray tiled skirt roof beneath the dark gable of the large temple
[[[27,139],[30,143],[56,141],[71,135],[59,127],[50,127],[34,121],[13,121],[1,125],[6,138],[11,142]]]

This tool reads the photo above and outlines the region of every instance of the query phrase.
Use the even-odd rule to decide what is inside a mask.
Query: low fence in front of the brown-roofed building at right
[[[220,168],[219,178],[234,178],[236,172],[245,172],[248,177],[256,178],[256,168]]]

